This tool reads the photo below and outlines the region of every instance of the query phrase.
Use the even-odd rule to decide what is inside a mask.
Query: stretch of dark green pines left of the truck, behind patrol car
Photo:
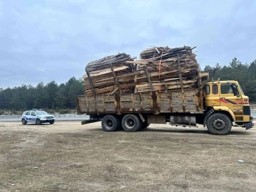
[[[84,95],[82,79],[70,78],[58,85],[55,81],[0,89],[1,110],[75,109],[76,98]]]

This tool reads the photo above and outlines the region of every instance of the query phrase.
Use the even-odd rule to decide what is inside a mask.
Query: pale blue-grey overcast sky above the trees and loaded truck
[[[256,59],[256,1],[0,0],[0,87],[81,78],[105,55],[196,46],[205,65]]]

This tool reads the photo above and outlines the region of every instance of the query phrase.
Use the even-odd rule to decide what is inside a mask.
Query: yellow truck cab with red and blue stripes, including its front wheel
[[[227,127],[226,117],[228,117],[236,126],[245,127],[245,129],[253,127],[249,97],[244,94],[237,81],[208,82],[203,90],[205,94],[204,107],[206,111],[208,110],[204,126],[213,127],[213,131],[220,132]],[[212,115],[214,113],[218,115]],[[209,119],[213,116],[213,119]]]

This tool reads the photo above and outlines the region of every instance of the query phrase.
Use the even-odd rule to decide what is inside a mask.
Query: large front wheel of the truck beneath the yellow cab
[[[211,134],[228,134],[232,128],[232,122],[223,113],[213,113],[206,120],[206,127]]]

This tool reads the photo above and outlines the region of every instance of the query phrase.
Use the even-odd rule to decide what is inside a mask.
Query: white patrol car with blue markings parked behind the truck
[[[22,124],[27,124],[28,122],[36,124],[49,122],[50,124],[53,124],[55,122],[55,118],[52,114],[48,114],[43,110],[29,110],[23,112],[21,122]]]

